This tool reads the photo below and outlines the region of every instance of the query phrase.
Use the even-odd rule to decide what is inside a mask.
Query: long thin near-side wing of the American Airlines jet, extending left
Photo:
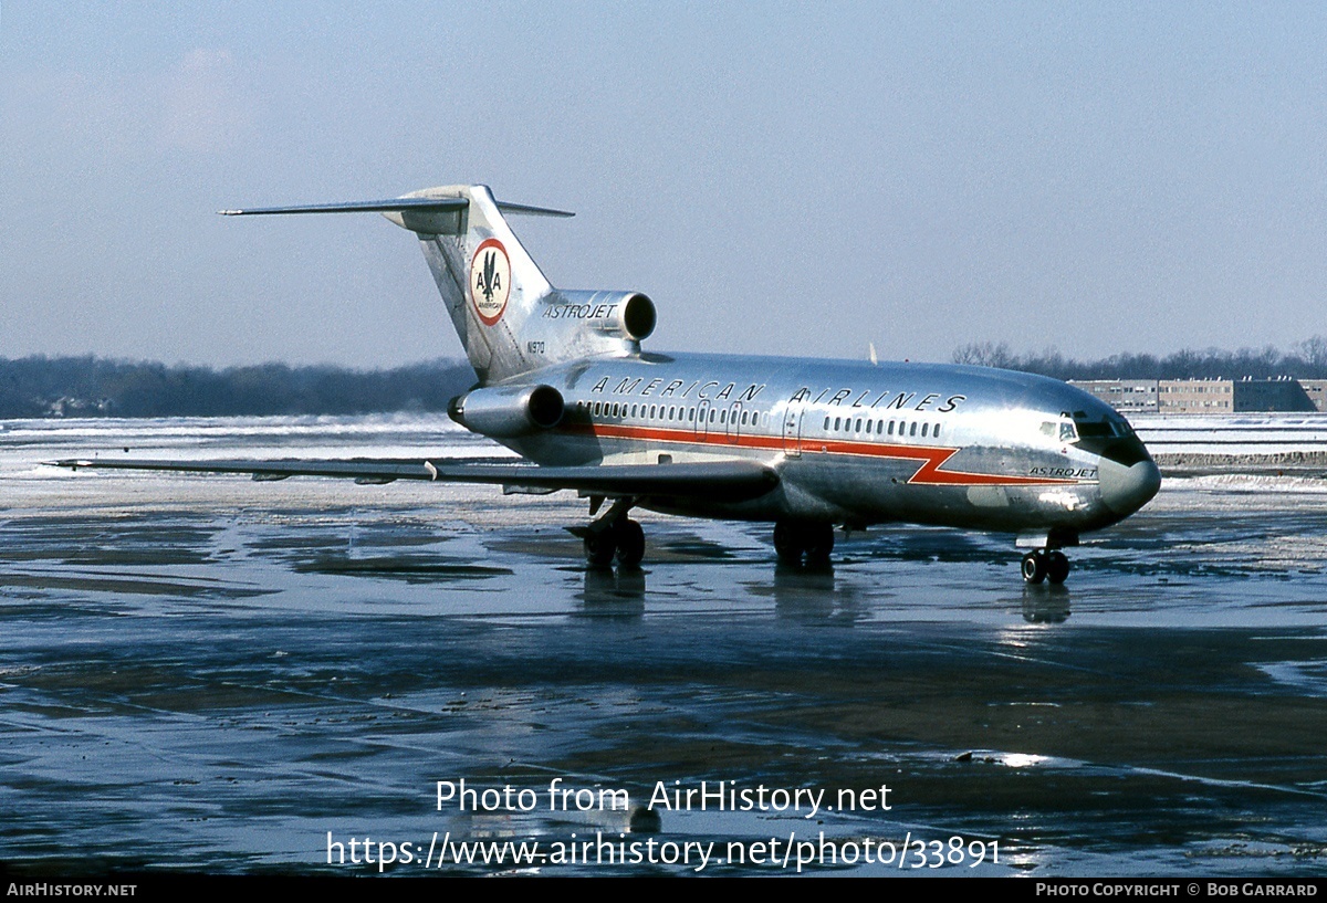
[[[503,487],[553,492],[577,489],[597,496],[703,497],[744,501],[770,492],[779,475],[760,461],[697,461],[679,464],[600,464],[580,467],[540,467],[537,464],[492,464],[455,459],[438,460],[151,460],[151,459],[65,459],[50,461],[70,471],[180,471],[190,473],[251,473],[255,480],[284,480],[289,476],[332,476],[357,483],[429,480],[438,483],[491,483]]]

